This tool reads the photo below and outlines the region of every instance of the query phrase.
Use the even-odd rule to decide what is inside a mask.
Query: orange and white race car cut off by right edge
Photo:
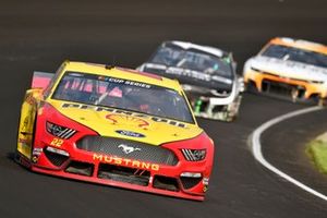
[[[322,105],[327,98],[327,47],[274,38],[245,62],[243,75],[250,90]]]

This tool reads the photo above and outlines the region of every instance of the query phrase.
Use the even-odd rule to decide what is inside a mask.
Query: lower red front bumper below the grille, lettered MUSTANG
[[[174,166],[167,166],[87,152],[70,142],[60,148],[50,144],[51,137],[46,136],[35,145],[33,171],[195,201],[204,201],[208,189],[211,166],[205,160],[183,160],[182,154]],[[53,150],[64,150],[64,155]]]

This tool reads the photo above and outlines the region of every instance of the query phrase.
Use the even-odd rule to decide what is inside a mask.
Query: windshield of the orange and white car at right
[[[270,45],[262,56],[327,68],[327,56],[293,47]]]

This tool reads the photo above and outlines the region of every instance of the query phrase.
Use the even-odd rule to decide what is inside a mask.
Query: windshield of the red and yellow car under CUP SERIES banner
[[[66,72],[52,98],[194,123],[185,98],[177,90],[142,82]]]

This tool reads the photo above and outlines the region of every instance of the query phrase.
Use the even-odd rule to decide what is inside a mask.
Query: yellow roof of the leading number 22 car
[[[180,86],[179,82],[175,80],[170,80],[167,77],[162,77],[159,75],[145,73],[132,69],[125,69],[120,66],[111,66],[105,64],[97,64],[97,63],[88,63],[88,62],[75,62],[75,61],[66,61],[64,64],[65,71],[72,72],[81,72],[81,73],[89,73],[96,74],[101,76],[112,76],[123,80],[131,80],[141,83],[147,83],[152,85],[162,86],[175,90],[181,90],[182,87]]]

